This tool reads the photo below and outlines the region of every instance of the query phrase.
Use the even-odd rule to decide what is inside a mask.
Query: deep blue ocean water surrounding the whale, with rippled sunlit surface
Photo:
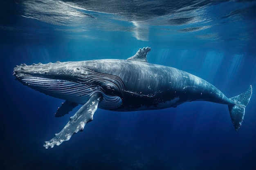
[[[256,87],[254,0],[8,0],[0,5],[1,170],[255,170],[253,90],[236,132],[226,105],[189,102],[163,110],[98,109],[60,146],[44,141],[78,108],[23,86],[22,63],[127,59],[149,46],[148,62],[201,77],[234,97]]]

